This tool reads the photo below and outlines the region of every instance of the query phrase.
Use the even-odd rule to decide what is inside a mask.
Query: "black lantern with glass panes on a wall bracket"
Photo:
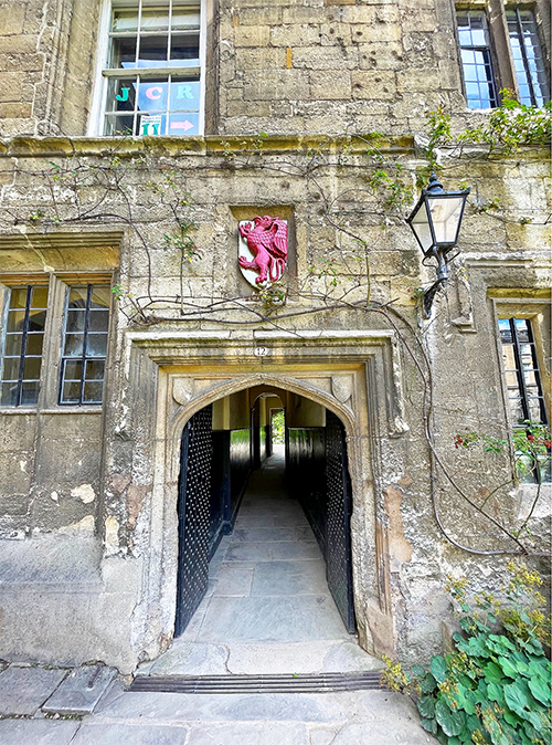
[[[432,174],[427,189],[422,189],[416,207],[406,219],[424,253],[422,263],[427,265],[426,262],[432,259],[437,262],[435,267],[437,281],[424,292],[425,318],[431,315],[435,293],[446,285],[447,262],[453,261],[459,253],[457,251],[453,256],[447,256],[458,242],[461,218],[469,192],[470,189],[445,191],[436,175]]]

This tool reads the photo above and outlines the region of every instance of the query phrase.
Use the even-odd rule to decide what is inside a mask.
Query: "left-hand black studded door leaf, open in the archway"
[[[212,420],[212,407],[208,406],[193,415],[182,432],[174,636],[185,629],[208,587]]]

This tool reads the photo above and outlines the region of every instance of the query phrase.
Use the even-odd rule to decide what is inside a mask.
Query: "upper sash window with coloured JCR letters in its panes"
[[[200,134],[200,9],[146,0],[109,27],[105,135]]]

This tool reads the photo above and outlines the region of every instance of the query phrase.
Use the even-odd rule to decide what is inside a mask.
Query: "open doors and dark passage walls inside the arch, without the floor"
[[[280,460],[270,453],[269,444],[269,412],[275,408],[284,409],[286,415],[285,459]],[[272,460],[275,462],[272,463]],[[282,470],[280,482],[277,482],[278,469]],[[253,499],[253,492],[255,489],[258,492],[263,479],[265,482],[272,479],[273,491],[274,484],[277,484],[279,501],[274,494],[268,497],[265,494],[264,504],[258,503],[261,497]],[[224,545],[224,536],[232,536],[236,520],[237,532],[245,535],[247,528],[240,527],[240,520],[245,521],[247,526],[255,505],[257,517],[253,523],[256,521],[258,524],[248,533],[256,529],[256,536],[267,536],[270,531],[272,534],[279,531],[282,535],[289,535],[293,525],[278,527],[270,510],[296,522],[300,511],[305,522],[301,535],[307,536],[305,545],[308,544],[315,557],[312,546],[316,548],[316,538],[318,556],[321,553],[323,557],[327,587],[347,631],[353,633],[351,487],[343,424],[335,413],[310,399],[283,389],[257,386],[197,411],[182,432],[176,636],[185,630],[208,592],[210,564],[211,567],[217,565],[217,553]],[[263,524],[263,514],[266,525]],[[298,525],[294,529],[297,531]],[[298,550],[297,542],[289,542],[288,546],[285,544],[283,541],[277,546],[278,558],[272,567],[263,563],[255,570],[258,576],[265,575],[265,584],[269,570],[273,574],[280,570],[282,567],[276,566],[278,562],[288,575],[291,570],[297,574],[297,567],[291,567],[294,553]],[[259,546],[257,553],[263,554],[264,548]],[[286,550],[289,556],[286,556]],[[288,562],[287,566],[285,562]],[[312,570],[312,567],[308,568]],[[257,579],[261,585],[261,579]],[[302,577],[302,588],[305,581]],[[312,602],[320,605],[320,586],[312,590],[312,598],[317,591],[318,598]],[[278,602],[280,608],[282,597]],[[289,612],[293,612],[293,602],[289,602]],[[302,600],[302,605],[306,602]],[[246,605],[244,601],[241,607]],[[274,601],[273,605],[276,608],[278,604]],[[268,605],[266,607],[268,612]],[[274,616],[276,611],[273,608],[269,612]]]

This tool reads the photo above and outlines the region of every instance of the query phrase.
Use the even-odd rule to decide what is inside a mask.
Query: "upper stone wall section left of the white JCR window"
[[[85,134],[99,6],[95,0],[0,3],[0,136]]]

